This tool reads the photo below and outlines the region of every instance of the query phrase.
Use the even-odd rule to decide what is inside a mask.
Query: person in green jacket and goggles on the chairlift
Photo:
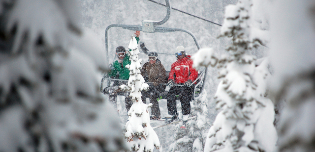
[[[131,61],[129,60],[129,56],[126,54],[126,49],[123,46],[119,46],[116,48],[116,55],[118,59],[110,65],[110,72],[108,75],[111,78],[128,80],[129,79],[129,70],[126,68],[126,65],[130,65]],[[114,107],[117,109],[117,94],[120,92],[119,86],[126,84],[126,81],[114,81],[113,86],[109,89],[109,101],[114,104]],[[126,110],[129,111],[132,101],[129,97],[129,92],[125,92],[125,104]]]

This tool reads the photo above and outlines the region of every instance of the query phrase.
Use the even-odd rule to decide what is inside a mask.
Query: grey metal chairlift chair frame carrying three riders
[[[158,26],[158,25],[162,25],[164,23],[166,23],[166,21],[169,19],[170,17],[170,13],[171,13],[171,7],[170,7],[170,3],[169,3],[169,0],[165,0],[165,3],[166,3],[166,8],[167,8],[167,14],[165,16],[165,18],[161,21],[149,21],[149,20],[144,20],[142,21],[142,25],[123,25],[123,24],[112,24],[112,25],[108,25],[105,29],[105,51],[106,51],[106,54],[107,54],[107,65],[108,64],[108,57],[109,57],[109,51],[108,51],[108,30],[112,27],[122,27],[124,29],[128,29],[128,30],[133,30],[133,31],[142,31],[142,32],[147,32],[147,33],[156,33],[156,32],[160,32],[160,33],[165,33],[165,32],[175,32],[175,31],[179,31],[179,32],[185,32],[185,33],[188,33],[194,40],[195,42],[195,45],[197,47],[197,50],[200,49],[200,46],[197,42],[197,39],[196,37],[194,36],[193,33],[191,33],[189,30],[185,30],[185,29],[181,29],[181,28],[170,28],[170,27],[161,27],[161,26]],[[139,50],[140,51],[140,50]],[[157,51],[158,52],[158,51]],[[159,52],[158,52],[159,54]],[[168,54],[170,55],[169,53],[161,53],[161,54]],[[171,55],[175,55],[175,52],[172,53]],[[204,81],[206,79],[206,73],[207,73],[207,68],[204,68],[202,70],[199,70],[198,71],[198,77],[196,80],[194,80],[191,84],[193,85],[195,82],[197,83],[195,86],[194,86],[194,91],[193,91],[193,100],[197,100],[198,98],[200,98],[201,96],[201,92],[203,91],[203,88],[204,88]],[[167,74],[167,78],[168,78],[168,74],[169,74],[169,71],[166,71],[166,74]],[[106,87],[104,87],[104,83],[105,80],[107,80],[107,84],[106,84]],[[110,78],[108,76],[108,74],[104,74],[102,80],[101,80],[101,84],[100,84],[100,91],[103,93],[103,94],[108,94],[108,88],[112,85],[112,82],[113,81],[128,81],[128,80],[122,80],[122,79],[115,79],[115,78]],[[152,82],[145,82],[145,83],[152,83]],[[163,83],[163,85],[167,85],[166,83]],[[183,87],[186,87],[184,85],[179,85],[179,84],[175,84],[176,86],[183,86]],[[166,94],[167,94],[168,91],[164,91],[163,93],[160,94],[160,97],[162,97],[162,99],[166,99]],[[118,95],[121,95],[123,96],[123,92],[118,92]]]

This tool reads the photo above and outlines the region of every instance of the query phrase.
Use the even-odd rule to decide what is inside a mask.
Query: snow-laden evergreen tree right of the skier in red
[[[275,150],[274,105],[266,98],[268,60],[258,62],[250,52],[263,42],[252,36],[251,6],[251,0],[226,6],[221,36],[232,37],[233,44],[226,48],[230,56],[217,60],[211,49],[204,63],[197,63],[203,53],[194,56],[196,65],[217,63],[221,79],[215,95],[221,111],[209,129],[204,152]]]

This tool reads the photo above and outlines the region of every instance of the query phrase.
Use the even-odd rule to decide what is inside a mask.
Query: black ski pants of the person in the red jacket
[[[190,101],[192,98],[193,86],[173,86],[169,89],[167,93],[167,109],[169,115],[177,114],[176,99],[178,96],[179,101],[182,104],[183,115],[188,115],[190,113]]]

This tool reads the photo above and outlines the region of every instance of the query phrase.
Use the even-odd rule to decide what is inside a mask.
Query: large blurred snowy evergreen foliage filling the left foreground
[[[100,40],[75,0],[0,0],[0,151],[113,152],[117,116],[99,93]]]

